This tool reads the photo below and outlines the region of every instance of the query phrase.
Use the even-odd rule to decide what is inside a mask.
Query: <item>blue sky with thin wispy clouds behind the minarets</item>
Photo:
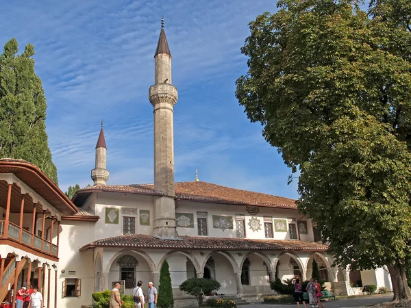
[[[164,14],[173,55],[175,180],[199,179],[297,198],[277,149],[234,95],[247,72],[240,53],[248,23],[277,10],[273,0],[3,1],[1,47],[36,49],[47,133],[60,188],[92,184],[101,119],[110,184],[153,182],[153,55]]]

